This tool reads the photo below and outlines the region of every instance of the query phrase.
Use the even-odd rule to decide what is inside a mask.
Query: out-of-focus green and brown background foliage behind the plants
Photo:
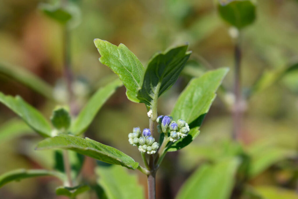
[[[63,105],[68,98],[62,75],[63,23],[69,16],[49,6],[58,4],[0,1],[0,90],[21,95],[47,118],[57,104]],[[193,76],[219,67],[230,67],[230,72],[198,138],[166,156],[157,174],[158,198],[174,198],[198,166],[210,172],[208,164],[235,156],[243,161],[236,175],[234,197],[241,190],[242,198],[297,198],[297,10],[296,0],[257,1],[254,23],[241,30],[246,110],[240,141],[235,142],[231,139],[234,44],[230,26],[219,16],[217,1],[71,0],[69,12],[74,17],[67,24],[68,44],[78,107],[98,87],[117,78],[98,61],[94,38],[125,44],[144,65],[156,51],[188,42],[193,51],[190,61],[177,83],[160,98],[159,114],[170,113]],[[53,12],[58,12],[55,17],[61,23],[53,19]],[[3,105],[0,124],[0,174],[18,168],[55,166],[51,159],[54,152],[35,151],[42,138]],[[147,125],[145,106],[129,101],[121,87],[100,110],[86,136],[141,161],[139,152],[128,144],[127,134],[133,127]],[[86,158],[80,177],[95,182],[95,165],[94,160]],[[138,173],[138,179],[146,189],[145,176]],[[53,190],[58,185],[52,177],[26,179],[2,187],[0,198],[55,198]],[[89,196],[95,197],[91,191],[80,197]]]

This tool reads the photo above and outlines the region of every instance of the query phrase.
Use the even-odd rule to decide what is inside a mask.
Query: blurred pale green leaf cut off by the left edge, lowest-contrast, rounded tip
[[[28,133],[33,133],[32,129],[24,121],[13,118],[1,125],[0,143]]]

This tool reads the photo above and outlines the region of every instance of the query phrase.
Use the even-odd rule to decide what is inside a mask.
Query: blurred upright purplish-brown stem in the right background
[[[236,41],[235,50],[235,103],[233,107],[233,138],[239,139],[241,134],[241,121],[242,121],[242,105],[241,105],[241,49],[239,39]]]

